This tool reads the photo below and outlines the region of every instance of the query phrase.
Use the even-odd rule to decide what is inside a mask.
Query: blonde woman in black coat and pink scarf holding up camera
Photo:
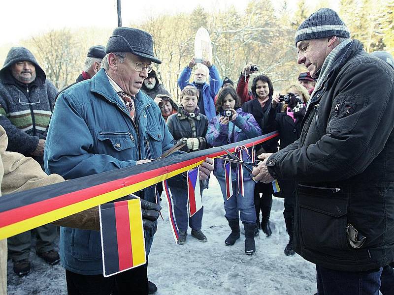
[[[263,127],[263,133],[274,130],[279,131],[279,149],[286,148],[299,138],[301,121],[305,115],[305,105],[309,99],[307,90],[299,84],[290,85],[285,93],[282,94],[288,93],[295,94],[295,96],[290,97],[288,103],[280,103],[279,94],[274,93],[268,119]],[[282,110],[281,113],[277,112],[278,108]],[[292,256],[295,254],[293,250],[293,220],[296,183],[293,180],[281,180],[278,184],[281,191],[274,193],[274,195],[285,198],[283,217],[285,218],[286,230],[289,234],[289,243],[285,247],[285,255]]]

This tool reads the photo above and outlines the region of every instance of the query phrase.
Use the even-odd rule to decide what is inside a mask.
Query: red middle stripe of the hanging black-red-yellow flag
[[[127,201],[115,202],[114,204],[120,271],[132,267],[130,217]]]

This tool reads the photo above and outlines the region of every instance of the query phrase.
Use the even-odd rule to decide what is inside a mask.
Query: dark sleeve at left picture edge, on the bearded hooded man
[[[7,118],[7,103],[0,96],[0,125],[5,129],[8,136],[8,150],[22,154],[30,154],[38,145],[38,136],[29,135],[17,128]]]

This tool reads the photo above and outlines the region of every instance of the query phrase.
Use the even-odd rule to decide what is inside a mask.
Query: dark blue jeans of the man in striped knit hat
[[[379,295],[382,267],[369,271],[340,271],[316,266],[318,295]]]

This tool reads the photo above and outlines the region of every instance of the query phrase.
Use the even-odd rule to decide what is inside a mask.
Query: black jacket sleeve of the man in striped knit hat
[[[373,62],[353,67],[342,69],[352,76],[344,74],[338,81],[332,104],[354,111],[339,116],[331,108],[330,123],[319,141],[292,150],[295,143],[271,155],[267,167],[272,176],[308,182],[345,180],[361,174],[385,147],[393,132],[393,74]]]

